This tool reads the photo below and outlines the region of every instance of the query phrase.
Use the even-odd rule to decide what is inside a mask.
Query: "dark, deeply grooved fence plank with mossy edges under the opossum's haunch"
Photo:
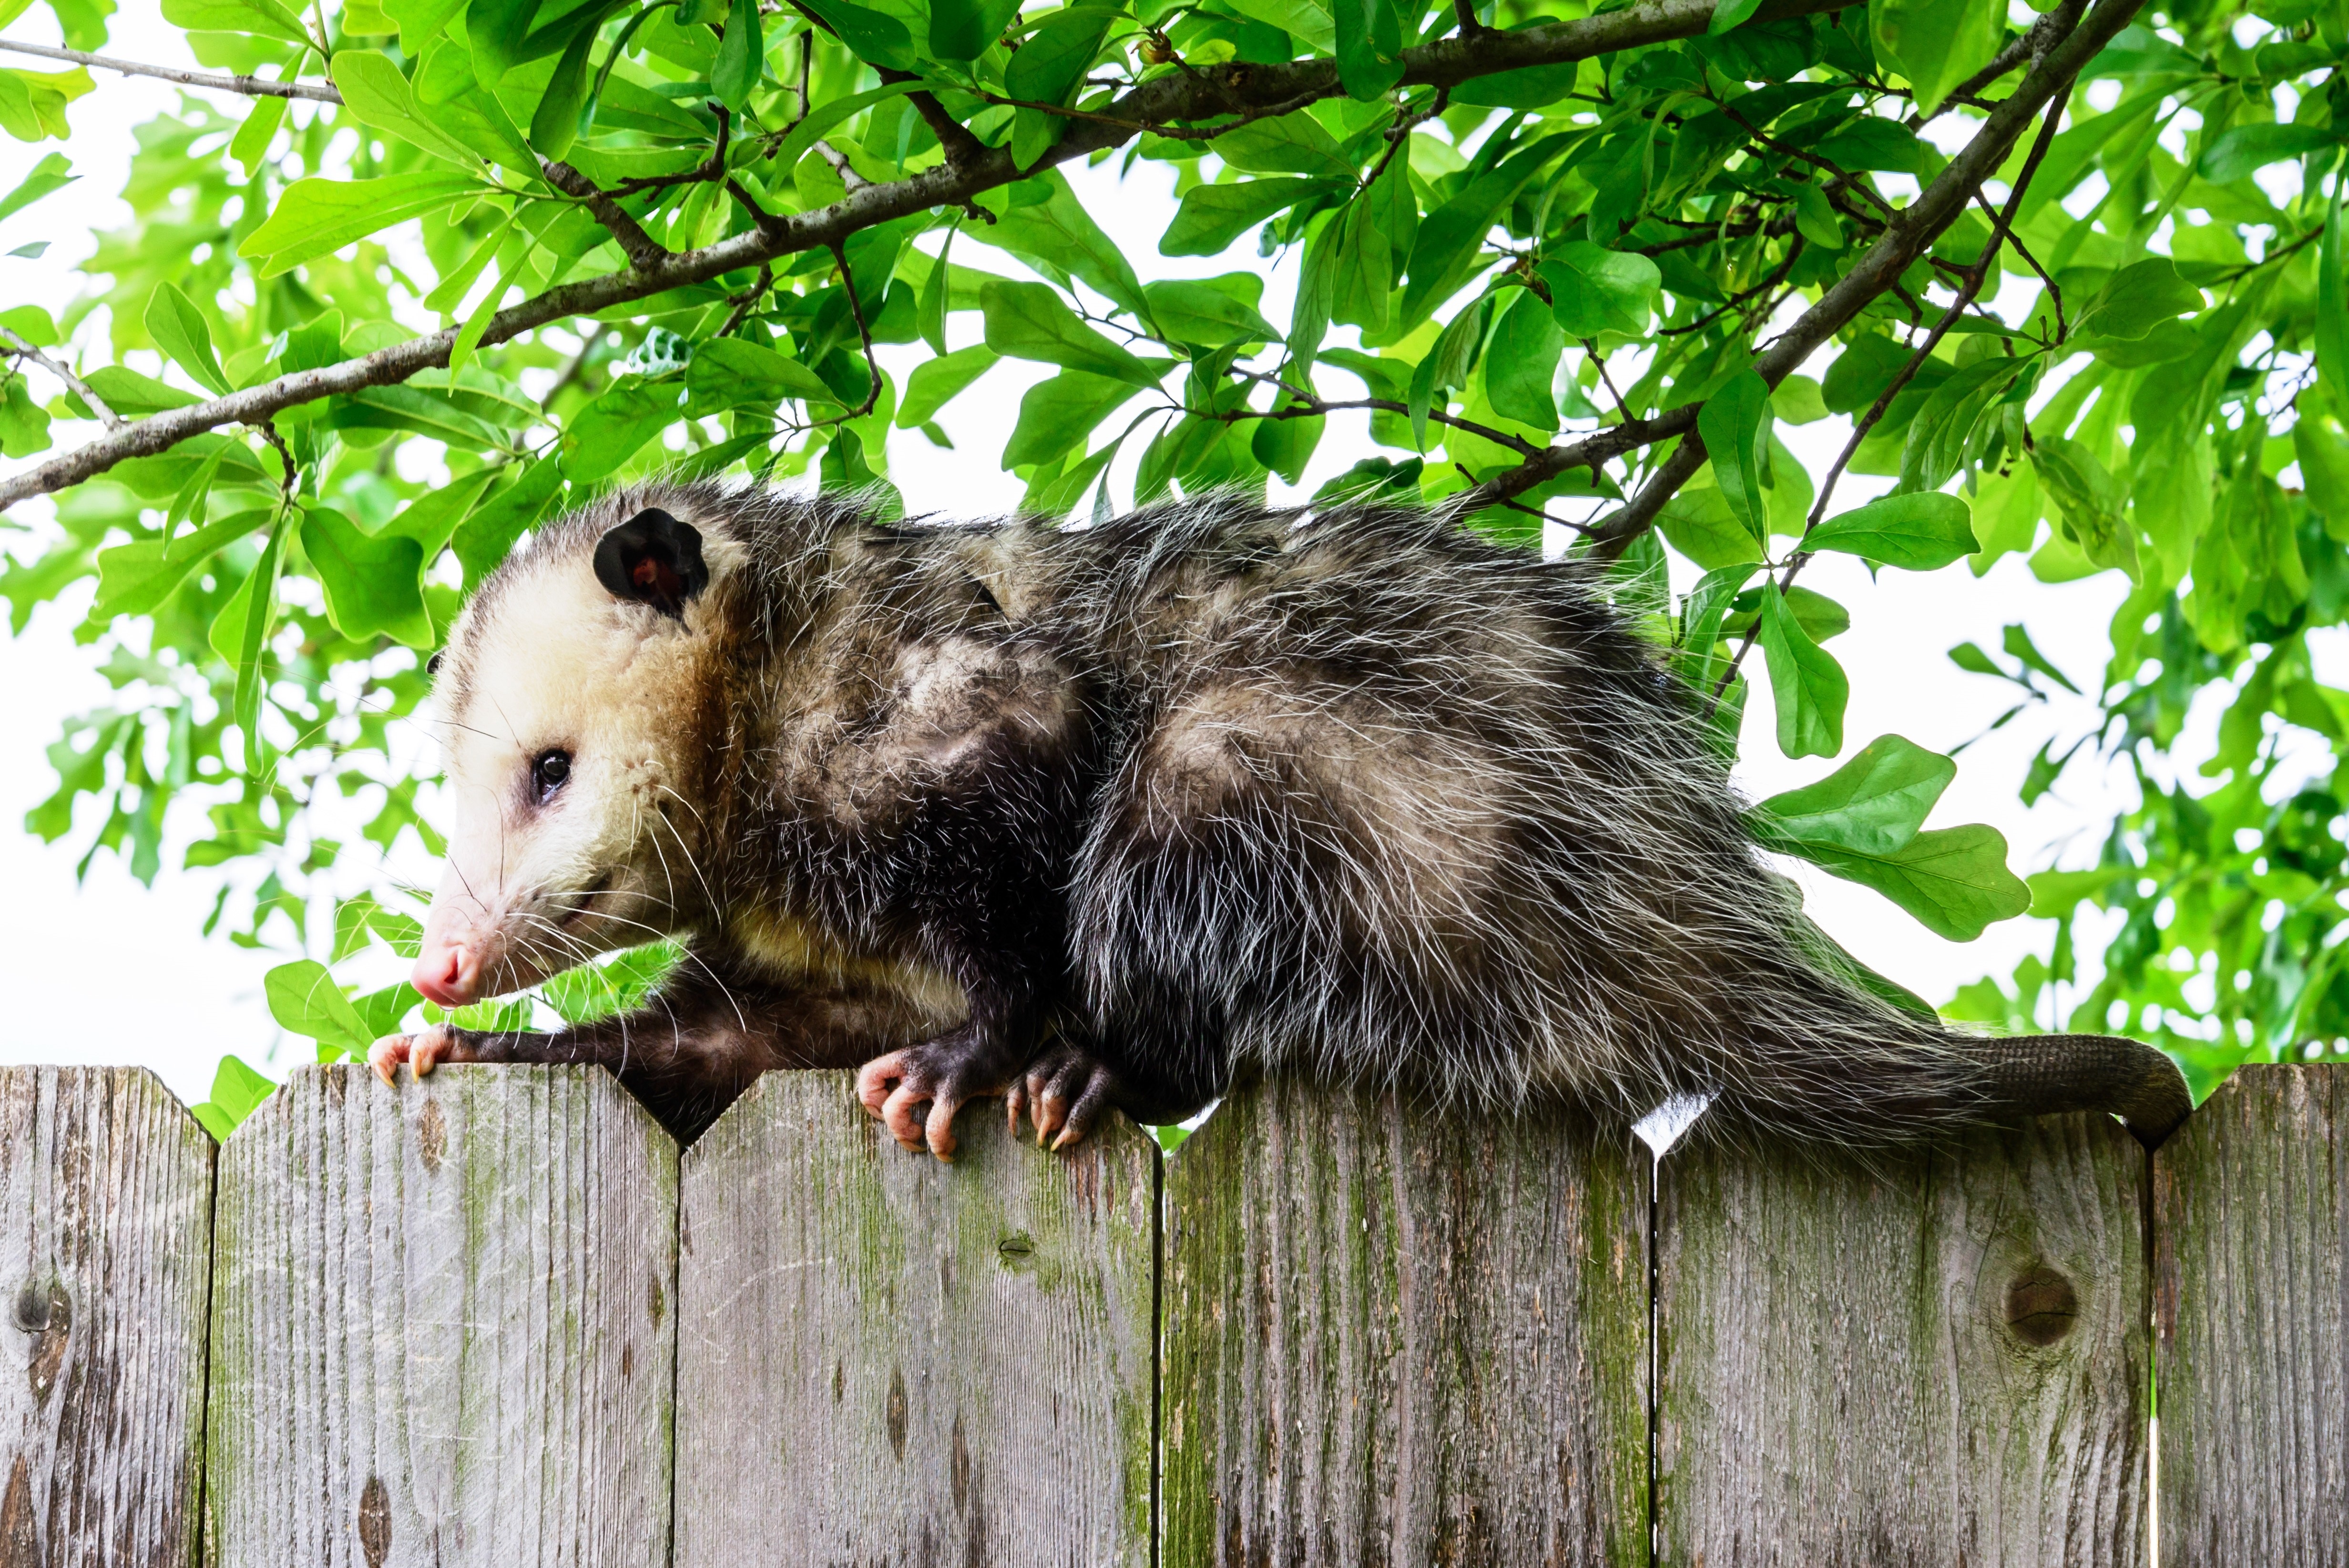
[[[1167,1162],[1165,1563],[1647,1563],[1647,1174],[1259,1084]]]

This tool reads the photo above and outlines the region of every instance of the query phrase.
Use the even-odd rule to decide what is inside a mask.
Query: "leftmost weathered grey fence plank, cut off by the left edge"
[[[190,1566],[211,1136],[146,1068],[0,1068],[0,1563]]]

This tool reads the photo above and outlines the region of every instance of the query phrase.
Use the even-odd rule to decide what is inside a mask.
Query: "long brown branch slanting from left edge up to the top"
[[[1849,0],[1771,0],[1757,14],[1806,16],[1846,2]],[[1621,12],[1604,12],[1579,21],[1550,21],[1515,33],[1485,31],[1475,38],[1440,38],[1431,45],[1405,52],[1405,73],[1398,85],[1456,87],[1499,70],[1557,66],[1590,59],[1593,54],[1611,54],[1616,49],[1694,38],[1712,21],[1712,5],[1715,0],[1647,0],[1647,5],[1633,5]],[[904,218],[933,207],[968,207],[982,190],[1010,185],[1012,181],[1027,178],[1045,167],[1083,162],[1092,153],[1116,148],[1135,136],[1137,127],[1163,127],[1182,120],[1214,120],[1219,115],[1245,113],[1257,106],[1292,101],[1311,103],[1315,99],[1334,99],[1341,94],[1344,87],[1339,85],[1337,61],[1294,61],[1287,66],[1224,63],[1191,75],[1163,75],[1135,87],[1111,106],[1123,124],[1071,124],[1069,134],[1062,136],[1050,153],[1036,160],[1034,167],[1015,167],[1010,150],[987,148],[982,157],[975,157],[961,169],[954,164],[940,164],[902,181],[850,190],[843,200],[829,207],[799,214],[789,221],[789,225],[756,228],[745,235],[731,235],[698,251],[660,251],[658,256],[648,256],[644,263],[630,265],[625,272],[561,284],[536,298],[521,300],[519,305],[500,310],[484,326],[482,347],[505,343],[566,317],[597,315],[611,310],[613,305],[641,300],[667,289],[702,284],[726,272],[747,272],[794,251],[810,251],[815,246],[829,249],[848,239],[848,235],[876,223],[888,223],[890,218]],[[1217,131],[1207,129],[1205,134],[1212,136]],[[1870,289],[1860,296],[1860,303],[1872,298],[1877,291],[1882,289]],[[1851,310],[1856,312],[1858,303]],[[258,387],[244,387],[242,392],[233,392],[207,404],[169,408],[136,420],[122,430],[108,432],[89,446],[59,453],[23,474],[0,481],[0,512],[31,495],[49,495],[52,491],[82,484],[129,458],[150,458],[160,451],[169,451],[179,441],[221,425],[254,425],[275,415],[280,408],[294,408],[296,404],[357,392],[362,387],[402,383],[418,371],[446,366],[449,347],[456,343],[456,336],[458,329],[449,326],[406,343],[395,343],[392,347],[376,350],[373,354],[364,354],[359,359],[345,359],[343,364],[317,371],[280,376],[277,380]],[[1785,371],[1781,371],[1781,376],[1783,373]],[[1656,420],[1616,425],[1576,446],[1588,448],[1597,444],[1609,448],[1607,455],[1616,455],[1630,451],[1633,446],[1680,434],[1682,430],[1694,427],[1694,423],[1696,411],[1689,408],[1687,418],[1677,425],[1665,427]],[[1574,448],[1550,448],[1546,460],[1553,460],[1548,472],[1564,472],[1569,467],[1581,467],[1590,458],[1574,455]],[[1525,479],[1506,493],[1517,495],[1520,491],[1541,484],[1548,472]]]

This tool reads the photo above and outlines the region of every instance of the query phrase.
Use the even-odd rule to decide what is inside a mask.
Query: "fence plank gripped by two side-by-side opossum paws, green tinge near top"
[[[1149,1563],[1158,1150],[768,1073],[686,1155],[677,1561]]]

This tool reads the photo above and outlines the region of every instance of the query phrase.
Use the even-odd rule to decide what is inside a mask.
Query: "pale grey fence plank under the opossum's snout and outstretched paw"
[[[677,1145],[606,1073],[303,1068],[214,1244],[214,1561],[665,1561]]]

